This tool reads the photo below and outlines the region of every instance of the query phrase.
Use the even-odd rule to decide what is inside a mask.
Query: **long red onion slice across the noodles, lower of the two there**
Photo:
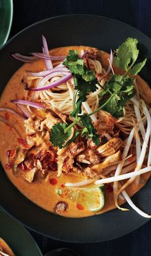
[[[48,89],[51,89],[53,87],[57,87],[58,85],[61,85],[62,83],[65,83],[66,81],[68,81],[72,77],[73,77],[72,74],[67,74],[67,76],[64,76],[63,78],[60,78],[59,80],[54,81],[53,83],[49,83],[48,85],[46,85],[44,87],[28,88],[28,90],[30,90],[30,91],[44,91],[44,90],[48,90]]]

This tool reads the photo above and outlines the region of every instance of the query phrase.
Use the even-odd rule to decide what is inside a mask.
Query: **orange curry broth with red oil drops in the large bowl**
[[[67,52],[70,49],[76,49],[78,52],[81,50],[89,50],[89,47],[62,47],[55,48],[51,50],[49,53],[53,56],[66,56]],[[94,48],[91,48],[91,50]],[[96,49],[94,49],[96,50]],[[109,54],[105,52],[100,52],[102,56],[102,67],[107,70],[109,67]],[[61,62],[61,61],[60,61]],[[55,63],[55,61],[53,62]],[[12,78],[6,85],[4,92],[1,96],[0,107],[13,109],[16,112],[22,114],[22,111],[17,107],[17,105],[10,103],[12,99],[22,99],[26,98],[26,90],[24,90],[24,83],[22,83],[22,79],[26,76],[26,71],[30,70],[30,72],[40,72],[44,70],[44,61],[38,60],[33,63],[26,63],[22,65],[22,67],[13,74]],[[114,72],[116,74],[122,74],[123,71],[114,67]],[[144,88],[145,98],[147,98],[147,103],[151,103],[151,92],[148,89],[147,83],[143,81],[139,76],[136,78],[138,83],[138,88],[140,91]],[[33,92],[35,93],[35,92]],[[39,116],[39,111],[37,109],[31,108],[32,113],[36,116]],[[8,156],[7,152],[16,147],[21,147],[21,140],[19,138],[26,138],[26,131],[24,129],[24,122],[14,114],[6,111],[0,112],[1,117],[3,117],[6,121],[8,121],[13,127],[10,125],[1,122],[1,144],[0,144],[0,158],[3,164],[4,170],[6,171],[6,175],[11,180],[13,185],[21,191],[21,193],[29,198],[32,202],[39,205],[41,208],[44,208],[48,211],[55,213],[55,207],[58,202],[66,202],[67,209],[65,211],[60,212],[60,215],[64,217],[87,217],[94,214],[100,214],[105,211],[109,211],[110,209],[115,208],[114,204],[114,195],[112,193],[112,185],[108,184],[105,186],[105,206],[100,211],[92,212],[88,209],[77,207],[76,202],[72,202],[69,198],[61,198],[57,193],[57,189],[60,187],[64,187],[66,182],[80,182],[82,180],[82,176],[75,175],[74,173],[62,173],[62,175],[57,176],[57,171],[48,171],[47,175],[44,178],[34,178],[33,182],[28,182],[22,175],[14,175],[8,164]],[[20,134],[20,135],[19,135]],[[33,152],[34,154],[34,149]],[[26,172],[26,170],[24,170]],[[150,172],[141,175],[141,180],[138,186],[134,186],[130,184],[127,187],[127,193],[131,197],[136,193],[141,187],[143,187],[148,178],[150,177]],[[119,204],[123,204],[125,200],[121,197],[119,198]]]

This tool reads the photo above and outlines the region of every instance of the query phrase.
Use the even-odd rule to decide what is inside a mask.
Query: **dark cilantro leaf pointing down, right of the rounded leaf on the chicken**
[[[85,136],[87,134],[88,138],[92,138],[94,144],[96,144],[97,146],[100,145],[99,136],[89,116],[87,116],[87,114],[82,114],[82,116],[80,116],[80,120],[84,125],[82,136]]]

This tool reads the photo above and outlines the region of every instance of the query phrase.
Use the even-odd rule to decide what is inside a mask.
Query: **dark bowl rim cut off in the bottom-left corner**
[[[42,256],[39,247],[26,228],[1,209],[0,237],[8,243],[15,255]]]

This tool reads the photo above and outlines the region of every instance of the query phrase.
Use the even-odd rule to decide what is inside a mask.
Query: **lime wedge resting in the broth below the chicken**
[[[62,198],[67,198],[72,202],[76,202],[79,209],[87,209],[89,211],[100,211],[103,208],[104,185],[102,186],[87,186],[87,187],[64,187],[57,189],[58,195]]]

